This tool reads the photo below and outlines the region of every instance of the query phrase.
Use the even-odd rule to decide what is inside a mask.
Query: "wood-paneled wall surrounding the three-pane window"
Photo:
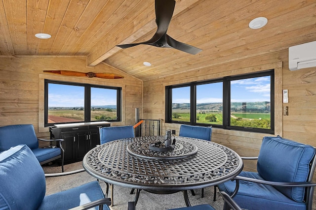
[[[276,69],[276,133],[272,136],[281,135],[316,147],[316,68],[290,71],[287,50],[145,81],[143,117],[162,119],[162,133],[165,129],[175,129],[178,134],[180,124],[164,123],[165,86],[272,68]],[[288,90],[289,103],[282,103],[282,89]],[[288,106],[288,116],[282,115],[283,106]],[[212,141],[237,151],[240,156],[257,156],[264,136],[269,134],[213,128]],[[256,161],[245,161],[244,170],[255,171]]]

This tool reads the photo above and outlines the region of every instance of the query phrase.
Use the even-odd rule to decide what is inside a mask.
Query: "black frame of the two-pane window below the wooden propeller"
[[[117,119],[116,120],[107,120],[111,122],[121,121],[122,119],[122,88],[121,87],[112,87],[112,86],[102,86],[95,84],[87,83],[78,83],[78,82],[66,82],[58,80],[44,79],[44,127],[52,126],[54,123],[48,123],[48,84],[59,84],[59,85],[71,85],[79,86],[84,88],[84,121],[76,122],[58,122],[58,124],[71,124],[79,122],[97,122],[104,120],[90,120],[91,117],[91,88],[102,88],[102,89],[111,89],[117,90]]]

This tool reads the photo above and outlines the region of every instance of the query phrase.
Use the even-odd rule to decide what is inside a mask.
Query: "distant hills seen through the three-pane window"
[[[190,103],[173,103],[172,109],[188,110]],[[205,112],[222,112],[223,103],[199,103],[197,110]],[[271,106],[268,101],[259,102],[232,102],[231,110],[233,112],[252,112],[252,113],[270,113]]]

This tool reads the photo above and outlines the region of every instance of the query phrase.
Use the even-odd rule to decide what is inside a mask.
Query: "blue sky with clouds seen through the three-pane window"
[[[197,103],[214,103],[222,101],[222,83],[197,86]],[[270,76],[232,81],[231,101],[270,101]],[[173,89],[172,103],[190,103],[190,87]]]

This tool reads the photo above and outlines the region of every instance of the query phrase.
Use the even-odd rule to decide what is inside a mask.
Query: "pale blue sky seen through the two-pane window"
[[[84,107],[84,87],[49,84],[48,107]],[[117,104],[117,90],[91,88],[91,107]]]

